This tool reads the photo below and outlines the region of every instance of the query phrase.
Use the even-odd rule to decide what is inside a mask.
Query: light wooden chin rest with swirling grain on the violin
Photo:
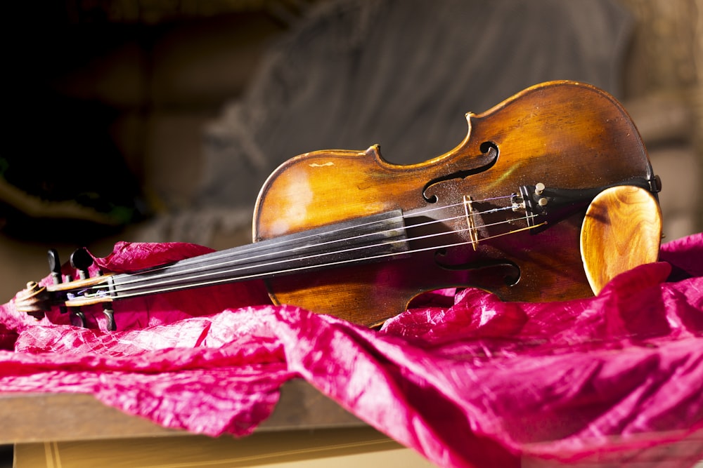
[[[662,241],[662,210],[639,187],[606,189],[586,210],[581,229],[583,269],[593,293],[615,276],[656,262]]]

